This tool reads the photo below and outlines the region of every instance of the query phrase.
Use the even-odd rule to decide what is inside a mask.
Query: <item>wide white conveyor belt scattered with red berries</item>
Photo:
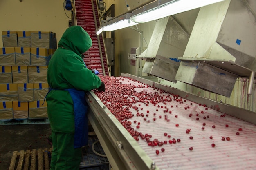
[[[256,126],[254,124],[211,108],[218,108],[218,106],[207,107],[203,104],[197,104],[130,78],[101,78],[106,84],[106,91],[105,93],[95,91],[95,94],[117,117],[123,127],[130,131],[135,139],[139,139],[137,144],[155,162],[157,168],[161,170],[256,169]],[[160,98],[149,97],[155,93]],[[153,99],[154,101],[160,101],[154,106],[152,104]],[[172,100],[170,101],[170,99]],[[112,115],[111,113],[106,111],[109,117]],[[140,115],[136,116],[138,113]],[[144,113],[144,116],[141,113]],[[102,111],[98,114],[106,119]],[[189,116],[190,114],[192,115]],[[124,115],[125,117],[123,117]],[[209,117],[207,118],[207,116]],[[155,121],[154,118],[156,118]],[[197,120],[197,118],[199,119]],[[138,122],[140,122],[139,128],[137,128]],[[119,126],[119,123],[115,124]],[[110,126],[110,129],[114,131],[114,135],[117,134],[113,125],[105,124],[104,128],[107,128],[107,126]],[[204,130],[202,127],[204,127]],[[186,132],[187,129],[190,130],[189,133]],[[115,136],[117,138],[115,140],[121,141],[124,150],[126,148],[126,152],[130,152],[131,148],[134,148],[134,153],[128,155],[135,157],[139,148],[132,143],[133,139],[127,135],[124,136],[128,141],[119,137],[124,134],[123,128],[119,127],[119,130],[120,134]],[[167,144],[149,146],[146,138],[142,139],[140,135],[136,137],[134,132],[135,134],[141,133],[140,135],[143,136],[146,134],[152,135],[149,138],[151,143],[154,139],[157,139],[163,143],[167,141]],[[239,132],[239,135],[237,135],[237,132]],[[167,136],[164,133],[167,133]],[[168,137],[168,135],[171,135],[171,137]],[[193,139],[189,138],[191,136]],[[210,139],[210,137],[213,138]],[[225,140],[222,140],[222,137]],[[227,140],[227,137],[230,140]],[[173,141],[173,138],[175,138],[176,143],[170,144],[169,140]],[[178,142],[178,139],[180,139],[180,142]],[[130,143],[132,146],[126,143]],[[212,144],[215,144],[215,147],[212,147]],[[189,150],[190,147],[193,147],[193,150]],[[161,148],[164,148],[164,152],[161,151]],[[159,150],[158,155],[156,150]],[[140,155],[143,155],[143,153]],[[130,159],[132,160],[132,158]],[[139,166],[139,163],[136,162],[142,164],[143,161],[145,161],[143,158],[141,160],[135,159],[132,163]]]

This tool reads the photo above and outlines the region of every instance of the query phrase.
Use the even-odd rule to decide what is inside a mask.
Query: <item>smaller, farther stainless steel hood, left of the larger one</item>
[[[189,41],[189,35],[173,17],[157,20],[148,48],[139,55],[146,60],[143,72],[172,82]]]

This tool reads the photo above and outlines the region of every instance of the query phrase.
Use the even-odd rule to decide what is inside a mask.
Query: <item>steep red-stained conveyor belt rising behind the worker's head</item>
[[[95,15],[96,21],[94,21],[93,11],[97,12],[97,5],[95,1],[93,2],[91,0],[76,0],[74,2],[76,7],[77,25],[83,27],[83,29],[85,29],[92,38],[92,47],[84,53],[85,57],[83,60],[87,68],[98,70],[100,75],[104,75],[103,73],[105,72],[106,76],[109,76],[102,36],[99,35],[100,42],[98,42],[97,34],[95,33],[95,22],[97,26],[99,26],[99,17],[98,15]],[[100,51],[102,53],[102,59]]]

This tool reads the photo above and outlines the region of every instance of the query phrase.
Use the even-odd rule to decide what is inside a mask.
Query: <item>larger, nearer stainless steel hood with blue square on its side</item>
[[[226,97],[238,77],[251,77],[253,82],[255,13],[253,0],[225,0],[201,7],[175,79]]]

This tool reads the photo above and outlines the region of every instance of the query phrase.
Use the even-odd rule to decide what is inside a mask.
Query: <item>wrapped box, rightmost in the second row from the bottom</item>
[[[34,100],[44,100],[49,91],[47,83],[34,83]]]

